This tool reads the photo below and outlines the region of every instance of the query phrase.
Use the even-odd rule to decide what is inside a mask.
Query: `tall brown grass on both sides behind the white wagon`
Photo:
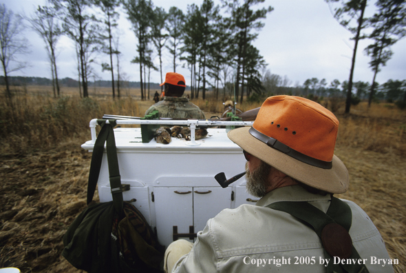
[[[100,96],[81,99],[70,88],[68,96],[54,99],[50,88],[28,88],[12,99],[3,97],[0,103],[0,139],[2,152],[52,147],[61,140],[88,137],[89,121],[103,114],[142,117],[153,101],[140,101],[131,96],[113,100],[105,90],[94,91]],[[192,102],[206,113],[206,118],[224,112],[223,101],[210,95]],[[261,103],[237,103],[242,111],[261,106]],[[380,103],[368,107],[366,102],[352,106],[351,114],[336,111],[340,121],[337,143],[361,147],[381,153],[406,155],[406,111],[393,104]]]

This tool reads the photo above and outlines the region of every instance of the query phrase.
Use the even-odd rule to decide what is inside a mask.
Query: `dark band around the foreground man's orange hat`
[[[332,168],[332,161],[322,161],[319,159],[314,159],[310,156],[307,156],[306,154],[297,152],[297,150],[293,150],[288,145],[285,145],[284,143],[277,141],[277,139],[267,136],[266,134],[262,134],[261,132],[257,131],[253,127],[251,127],[248,132],[250,132],[250,134],[252,136],[254,136],[255,139],[258,139],[259,141],[264,142],[269,147],[274,148],[274,149],[278,150],[279,152],[283,152],[284,154],[287,154],[288,156],[290,156],[294,159],[297,159],[303,163],[312,165],[317,168],[322,168],[322,169],[331,169]]]

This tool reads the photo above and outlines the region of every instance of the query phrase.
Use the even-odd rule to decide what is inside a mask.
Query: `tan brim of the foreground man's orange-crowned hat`
[[[249,129],[243,127],[231,130],[228,132],[228,138],[261,161],[312,188],[336,194],[348,190],[348,170],[337,156],[333,156],[331,169],[317,168],[271,148],[252,136],[248,132]]]

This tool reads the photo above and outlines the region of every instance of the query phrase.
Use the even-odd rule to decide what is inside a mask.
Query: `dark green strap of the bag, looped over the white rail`
[[[89,181],[87,183],[87,205],[92,202],[94,192],[96,191],[106,143],[111,195],[113,196],[113,203],[116,212],[122,214],[122,185],[120,170],[118,168],[116,140],[114,139],[113,130],[117,123],[115,119],[98,119],[97,123],[101,126],[101,129],[94,143],[92,162],[90,163]]]

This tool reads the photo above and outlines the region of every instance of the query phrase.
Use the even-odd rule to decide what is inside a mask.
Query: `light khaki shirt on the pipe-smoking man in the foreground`
[[[324,250],[319,236],[290,214],[264,208],[277,201],[308,201],[327,212],[330,195],[311,194],[294,185],[268,192],[256,205],[222,210],[197,233],[191,252],[182,256],[173,272],[324,273]],[[350,236],[363,259],[361,263],[370,273],[394,272],[392,265],[387,264],[385,243],[374,223],[358,205],[343,201],[352,210]],[[378,264],[378,259],[385,259],[385,265],[383,260]]]

